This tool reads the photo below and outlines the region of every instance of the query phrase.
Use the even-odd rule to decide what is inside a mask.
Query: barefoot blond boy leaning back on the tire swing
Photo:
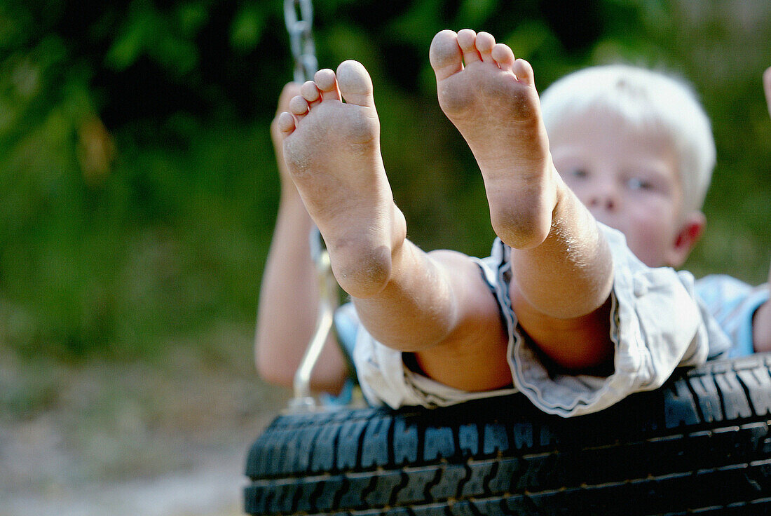
[[[519,390],[542,410],[574,416],[726,352],[692,276],[658,268],[682,265],[699,237],[714,162],[709,122],[682,86],[651,73],[630,85],[611,77],[631,95],[615,109],[548,110],[546,95],[542,117],[530,65],[491,35],[443,31],[429,54],[439,103],[480,165],[500,241],[484,260],[412,245],[382,167],[368,74],[356,62],[336,76],[320,71],[273,127],[286,164],[261,292],[261,373],[288,383],[312,329],[311,218],[352,296],[355,312],[342,317],[359,326],[354,358],[371,403],[435,406]],[[645,96],[665,96],[658,86],[679,92],[668,119],[695,116],[701,126],[685,130],[705,133],[705,148],[646,115]],[[642,107],[631,103],[628,116],[630,100]],[[763,328],[765,313],[756,312]],[[316,386],[339,389],[344,364],[327,346]]]

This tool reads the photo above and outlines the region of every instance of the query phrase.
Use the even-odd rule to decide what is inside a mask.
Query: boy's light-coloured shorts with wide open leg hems
[[[571,417],[602,410],[631,393],[656,389],[676,367],[699,365],[729,349],[725,333],[695,298],[689,272],[649,268],[632,255],[623,234],[603,225],[601,230],[614,261],[615,355],[610,376],[560,373],[541,362],[511,309],[510,249],[496,240],[490,257],[473,259],[507,325],[512,387],[466,392],[438,383],[406,366],[402,352],[377,342],[359,323],[353,360],[365,398],[372,405],[393,408],[432,407],[520,392],[544,412]]]

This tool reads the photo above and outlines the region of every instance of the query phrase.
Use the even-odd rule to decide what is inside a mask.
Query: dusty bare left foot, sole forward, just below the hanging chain
[[[343,62],[336,76],[319,70],[289,108],[278,118],[289,174],[338,283],[353,297],[371,297],[389,280],[406,224],[385,177],[369,73],[355,61]]]

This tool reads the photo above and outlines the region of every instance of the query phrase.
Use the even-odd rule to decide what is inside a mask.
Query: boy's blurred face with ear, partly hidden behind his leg
[[[549,135],[554,166],[594,218],[624,233],[645,265],[682,265],[701,233],[703,215],[694,228],[695,215],[682,213],[668,140],[607,113],[576,116],[557,129]]]

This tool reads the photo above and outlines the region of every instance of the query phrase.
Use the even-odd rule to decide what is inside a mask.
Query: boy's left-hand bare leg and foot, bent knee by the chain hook
[[[336,76],[318,72],[290,107],[279,118],[284,157],[365,328],[387,346],[419,350],[426,373],[450,386],[510,383],[507,337],[476,264],[449,251],[426,254],[406,240],[364,67],[348,61]]]

